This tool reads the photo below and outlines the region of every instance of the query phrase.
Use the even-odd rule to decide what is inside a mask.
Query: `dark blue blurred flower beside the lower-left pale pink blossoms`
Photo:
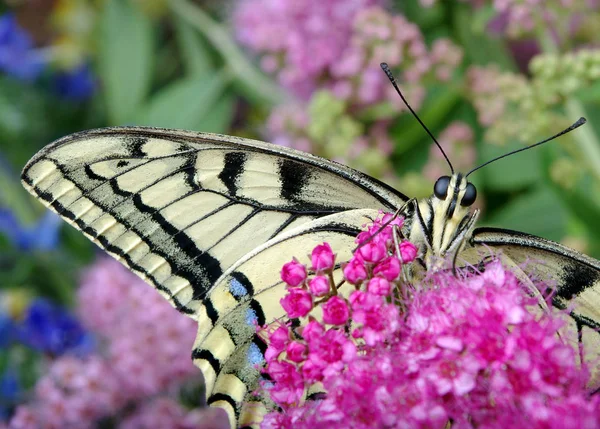
[[[66,352],[88,354],[94,349],[92,335],[64,308],[45,299],[35,299],[17,325],[18,340],[57,356]]]

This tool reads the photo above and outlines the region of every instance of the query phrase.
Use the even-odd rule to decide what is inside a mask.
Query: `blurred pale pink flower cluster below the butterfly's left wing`
[[[50,362],[33,401],[17,409],[10,428],[92,428],[98,419],[122,415],[127,405],[176,390],[190,378],[201,382],[189,359],[195,322],[113,259],[87,272],[78,310],[105,353]],[[185,414],[178,413],[168,415]]]

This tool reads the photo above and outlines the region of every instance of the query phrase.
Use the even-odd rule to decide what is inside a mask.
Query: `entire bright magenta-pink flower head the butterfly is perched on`
[[[310,286],[333,274],[326,244],[331,263],[312,279],[298,261],[282,271],[290,286],[282,305],[308,317],[300,328],[263,330],[265,389],[281,410],[262,428],[600,428],[600,398],[586,393],[587,372],[556,335],[562,322],[530,313],[537,301],[510,271],[493,261],[484,272],[428,273],[407,285],[383,224],[359,236],[344,267],[356,286],[348,299],[332,281],[320,299]],[[408,262],[415,250],[405,250]],[[322,394],[308,399],[316,382]]]

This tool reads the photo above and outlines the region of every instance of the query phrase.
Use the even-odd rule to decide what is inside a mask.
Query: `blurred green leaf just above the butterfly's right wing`
[[[556,194],[544,186],[515,198],[501,212],[482,224],[559,241],[565,235],[567,218],[567,210]]]

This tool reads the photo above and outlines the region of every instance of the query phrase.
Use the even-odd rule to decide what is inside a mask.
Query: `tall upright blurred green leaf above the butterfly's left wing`
[[[154,40],[149,18],[128,0],[107,0],[100,18],[98,69],[111,124],[131,121],[150,90]]]

